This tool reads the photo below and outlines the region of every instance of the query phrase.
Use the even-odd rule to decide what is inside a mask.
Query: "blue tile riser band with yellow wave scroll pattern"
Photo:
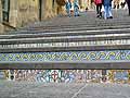
[[[0,53],[0,62],[104,60],[130,60],[130,50]]]

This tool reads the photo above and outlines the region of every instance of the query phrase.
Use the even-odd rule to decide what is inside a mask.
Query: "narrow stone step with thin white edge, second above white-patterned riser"
[[[63,37],[63,36],[94,36],[94,35],[112,35],[112,34],[129,34],[130,27],[120,27],[117,28],[106,28],[106,29],[82,29],[82,30],[65,30],[65,32],[52,32],[52,33],[43,33],[43,32],[34,32],[34,33],[21,33],[21,34],[10,34],[10,35],[0,35],[0,39],[20,39],[20,38],[37,38],[37,37]]]

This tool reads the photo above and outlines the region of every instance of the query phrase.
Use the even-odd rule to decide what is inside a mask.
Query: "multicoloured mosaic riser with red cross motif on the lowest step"
[[[130,70],[4,70],[1,77],[43,83],[130,83]],[[105,79],[103,78],[105,76]]]

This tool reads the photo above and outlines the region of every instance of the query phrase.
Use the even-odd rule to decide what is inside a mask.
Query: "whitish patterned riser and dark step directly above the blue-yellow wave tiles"
[[[125,41],[125,44],[123,44]],[[128,44],[126,44],[128,41]],[[62,52],[62,51],[104,51],[104,50],[130,50],[130,40],[116,41],[79,41],[64,44],[18,44],[18,45],[0,45],[1,53],[13,52]],[[102,45],[102,42],[104,42]],[[106,44],[105,44],[106,42]],[[112,44],[110,44],[112,42]],[[114,44],[115,42],[115,44]],[[119,44],[120,42],[120,44]],[[82,45],[83,44],[83,45]],[[66,45],[66,46],[65,46]]]

